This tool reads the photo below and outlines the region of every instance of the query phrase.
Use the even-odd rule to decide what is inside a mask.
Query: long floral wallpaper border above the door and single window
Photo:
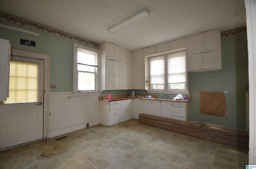
[[[70,33],[66,33],[64,31],[39,24],[37,22],[33,22],[33,21],[26,20],[26,19],[23,19],[23,18],[20,18],[20,17],[17,17],[17,16],[6,14],[4,12],[0,12],[0,19],[6,20],[8,22],[15,22],[15,23],[22,24],[22,25],[25,25],[25,26],[34,27],[38,30],[47,31],[49,33],[54,33],[56,35],[60,35],[61,37],[66,37],[66,38],[69,38],[69,39],[72,39],[72,40],[75,40],[75,41],[79,41],[81,43],[86,43],[87,45],[92,45],[94,47],[100,48],[100,43],[90,41],[88,39],[84,39],[82,37],[72,35]]]

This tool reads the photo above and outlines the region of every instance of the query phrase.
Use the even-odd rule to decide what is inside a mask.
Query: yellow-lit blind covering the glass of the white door
[[[9,98],[4,103],[38,101],[39,63],[10,61]]]

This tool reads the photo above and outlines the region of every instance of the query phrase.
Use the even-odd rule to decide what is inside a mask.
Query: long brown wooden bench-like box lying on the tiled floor
[[[244,149],[249,148],[249,133],[245,131],[198,124],[194,122],[184,122],[181,120],[149,114],[139,114],[139,120],[141,124],[170,130],[172,132]]]

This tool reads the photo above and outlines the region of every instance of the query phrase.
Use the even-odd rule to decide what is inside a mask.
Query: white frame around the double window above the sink
[[[147,74],[145,75],[145,79],[148,79],[148,82],[146,82],[145,86],[147,86],[147,90],[149,92],[188,92],[188,71],[186,69],[186,83],[185,83],[185,89],[170,89],[170,84],[168,84],[168,55],[169,54],[175,54],[184,52],[186,55],[186,50],[180,50],[180,51],[172,51],[172,52],[166,52],[166,53],[159,53],[158,55],[154,56],[148,56],[145,57],[145,64],[148,65]],[[165,76],[165,83],[164,83],[164,89],[153,89],[151,84],[151,77],[150,77],[150,58],[152,57],[159,57],[161,55],[164,55],[164,76]],[[186,56],[185,56],[186,57]],[[185,65],[186,66],[186,65]]]

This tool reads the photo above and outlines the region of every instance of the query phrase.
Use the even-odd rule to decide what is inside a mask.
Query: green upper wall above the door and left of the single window
[[[12,49],[50,55],[50,84],[56,84],[56,88],[51,88],[50,92],[73,91],[73,43],[88,45],[13,22],[0,20],[0,24],[39,33],[39,36],[36,36],[0,27],[0,38],[10,40]],[[20,39],[36,41],[36,47],[20,45]]]

